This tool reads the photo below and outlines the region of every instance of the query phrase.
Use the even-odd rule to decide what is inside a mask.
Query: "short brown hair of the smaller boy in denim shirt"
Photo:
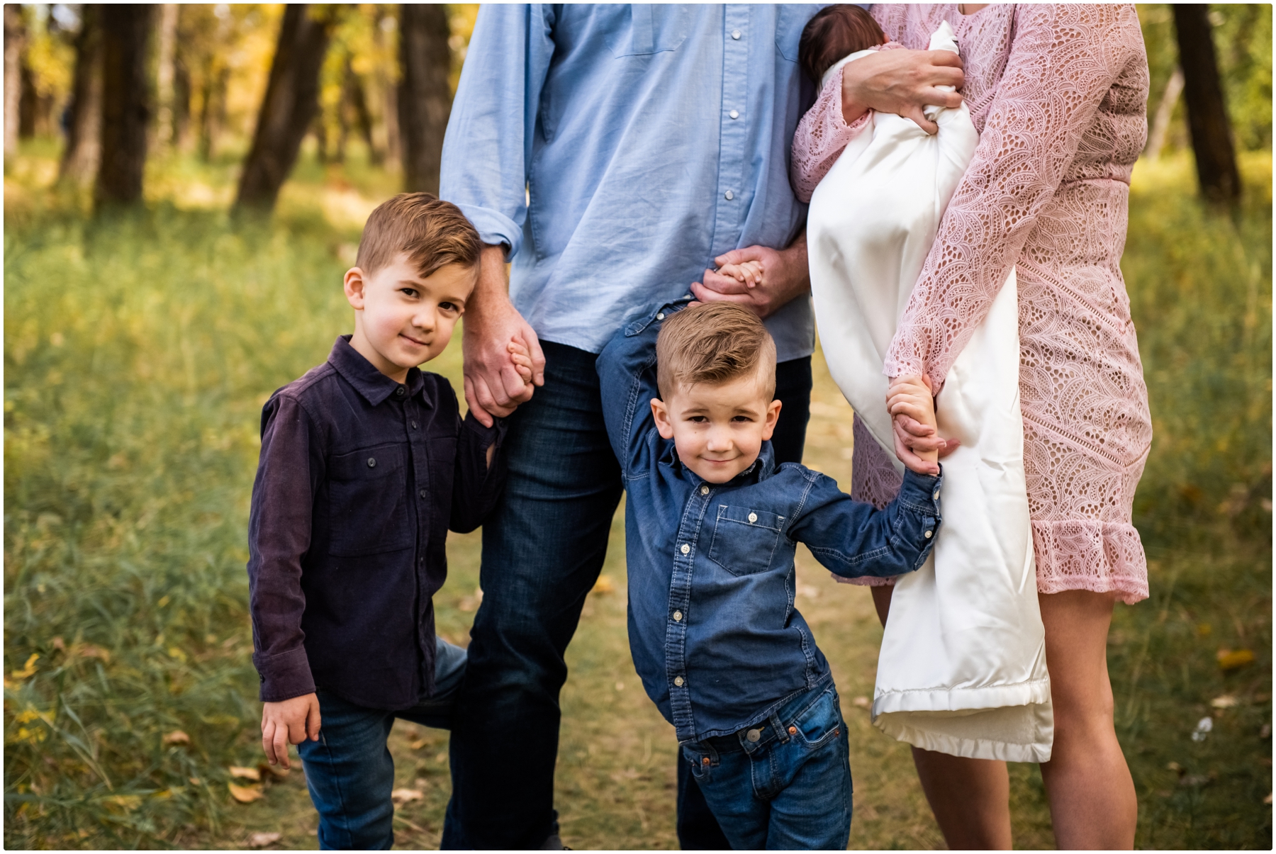
[[[776,394],[776,342],[753,311],[734,303],[702,303],[669,317],[656,338],[660,396],[680,384],[718,384],[758,374],[769,402]]]

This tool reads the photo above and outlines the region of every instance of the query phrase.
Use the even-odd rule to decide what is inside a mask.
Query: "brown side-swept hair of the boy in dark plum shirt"
[[[355,266],[371,274],[407,253],[424,278],[448,264],[473,267],[481,251],[461,208],[430,193],[399,193],[367,217]]]

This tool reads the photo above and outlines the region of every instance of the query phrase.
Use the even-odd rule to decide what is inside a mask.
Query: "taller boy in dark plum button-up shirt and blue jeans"
[[[500,494],[505,428],[462,421],[448,380],[417,365],[448,346],[481,249],[448,202],[382,204],[346,272],[355,333],[262,411],[248,563],[262,745],[288,767],[300,744],[325,849],[393,844],[385,739],[396,717],[450,726],[464,675],[431,596],[448,528],[478,527]],[[531,377],[521,342],[510,359]]]

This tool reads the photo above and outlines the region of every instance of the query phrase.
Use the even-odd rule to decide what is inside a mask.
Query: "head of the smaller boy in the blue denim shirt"
[[[711,484],[752,466],[780,417],[776,342],[758,315],[732,303],[683,309],[661,327],[656,361],[664,400],[651,411],[683,465]]]

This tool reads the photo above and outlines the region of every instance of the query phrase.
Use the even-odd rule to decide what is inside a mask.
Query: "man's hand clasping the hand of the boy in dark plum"
[[[532,400],[545,384],[545,354],[532,327],[509,301],[505,257],[500,246],[482,250],[478,283],[466,306],[461,352],[464,359],[466,403],[484,426]],[[524,382],[510,357],[509,343],[521,341],[531,357],[531,382]]]

